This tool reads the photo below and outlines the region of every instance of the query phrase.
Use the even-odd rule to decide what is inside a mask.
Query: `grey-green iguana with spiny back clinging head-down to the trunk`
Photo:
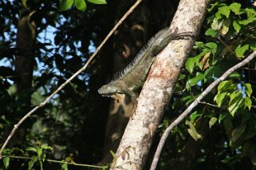
[[[110,83],[100,87],[99,94],[104,97],[112,97],[116,99],[117,94],[129,95],[133,105],[136,105],[136,93],[143,86],[147,78],[148,71],[152,66],[155,56],[162,52],[172,40],[180,37],[190,36],[189,33],[171,33],[169,29],[162,29],[152,37],[148,44],[140,50],[138,55],[131,64],[128,64],[124,71],[120,72],[117,79],[113,79]]]

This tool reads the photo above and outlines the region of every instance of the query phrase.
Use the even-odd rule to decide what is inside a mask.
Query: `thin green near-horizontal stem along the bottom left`
[[[27,157],[27,156],[13,156],[13,155],[4,156],[3,155],[2,157],[10,157],[10,158],[22,159],[22,160],[32,160],[32,157]],[[49,160],[49,159],[45,159],[44,161],[58,163],[58,164],[72,164],[72,165],[81,166],[81,167],[101,168],[101,169],[104,168],[104,167],[96,166],[96,165],[92,165],[92,164],[77,164],[75,162],[67,162],[67,161],[64,161],[64,160]]]

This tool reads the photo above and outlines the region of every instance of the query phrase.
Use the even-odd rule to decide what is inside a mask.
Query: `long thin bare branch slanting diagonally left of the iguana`
[[[63,89],[63,87],[65,87],[65,85],[67,85],[72,79],[74,79],[77,75],[79,75],[81,73],[81,71],[85,71],[85,69],[88,67],[88,65],[90,64],[90,62],[93,60],[94,56],[96,56],[96,54],[100,51],[100,49],[102,48],[102,46],[105,44],[106,41],[108,41],[108,38],[112,36],[112,34],[116,31],[117,27],[124,21],[124,19],[126,17],[128,17],[129,14],[132,13],[132,11],[140,4],[140,2],[142,2],[142,0],[137,0],[133,6],[124,14],[123,17],[120,18],[120,20],[116,23],[116,25],[112,28],[112,30],[108,33],[108,35],[104,38],[104,40],[100,43],[100,45],[98,46],[98,48],[96,48],[96,51],[93,52],[93,55],[90,56],[89,60],[86,62],[86,64],[80,69],[78,70],[75,74],[73,74],[69,79],[67,79],[65,81],[65,83],[62,83],[60,87],[57,88],[56,91],[54,91],[52,93],[52,95],[49,95],[49,97],[47,99],[45,99],[44,102],[41,102],[38,106],[34,107],[33,110],[30,110],[30,112],[28,114],[26,114],[16,125],[14,125],[14,129],[12,129],[12,131],[10,132],[9,136],[7,137],[6,141],[4,142],[4,144],[2,145],[2,148],[0,150],[0,160],[2,159],[2,152],[3,149],[6,148],[6,145],[8,144],[8,142],[10,141],[10,138],[14,136],[15,131],[18,129],[19,126],[21,126],[22,122],[24,122],[26,120],[26,118],[29,118],[31,114],[33,114],[36,110],[38,110],[39,108],[41,108],[42,106],[45,106],[45,104],[47,102],[49,102],[49,99],[52,99],[54,95],[57,94],[57,92],[61,91],[61,89]]]

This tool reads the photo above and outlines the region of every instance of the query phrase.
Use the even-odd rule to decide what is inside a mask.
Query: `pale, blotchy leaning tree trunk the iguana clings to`
[[[180,1],[171,22],[171,31],[178,29],[178,33],[191,32],[196,37],[208,2],[208,0]],[[176,80],[191,51],[195,37],[171,41],[156,57],[140,93],[136,112],[124,131],[116,152],[116,160],[112,162],[112,169],[143,168],[164,108],[171,98]]]

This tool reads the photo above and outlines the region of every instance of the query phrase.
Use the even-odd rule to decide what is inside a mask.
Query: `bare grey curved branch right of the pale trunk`
[[[191,114],[191,110],[193,110],[195,108],[195,106],[197,106],[199,104],[199,102],[208,94],[210,93],[210,91],[215,88],[220,82],[222,82],[224,79],[226,79],[228,77],[228,75],[230,75],[232,72],[234,72],[235,70],[237,70],[238,68],[242,68],[242,66],[248,64],[250,62],[250,60],[253,60],[254,57],[256,56],[256,52],[252,52],[250,54],[250,56],[248,56],[245,60],[242,60],[242,62],[234,65],[232,68],[228,69],[221,77],[219,77],[219,79],[216,79],[213,83],[211,83],[207,89],[205,91],[203,91],[203,93],[201,95],[199,95],[199,97],[197,99],[195,99],[194,102],[191,103],[190,106],[187,107],[187,109],[183,112],[183,114],[180,114],[178,118],[175,119],[174,122],[171,123],[170,126],[167,127],[167,129],[165,129],[163,136],[160,139],[160,142],[157,146],[156,149],[156,153],[154,156],[154,159],[152,161],[152,165],[150,170],[155,170],[156,169],[156,165],[158,163],[158,160],[160,158],[160,153],[162,152],[163,149],[163,145],[165,143],[165,141],[167,140],[167,137],[169,135],[169,133],[171,133],[171,129],[173,129],[175,126],[179,125],[179,122],[182,122],[184,118],[187,117],[187,115]]]

